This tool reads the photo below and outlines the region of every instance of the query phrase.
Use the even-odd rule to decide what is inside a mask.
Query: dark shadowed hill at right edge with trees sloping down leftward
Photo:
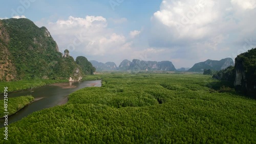
[[[237,92],[256,99],[256,48],[238,55],[234,66],[218,71],[212,78],[226,81]]]

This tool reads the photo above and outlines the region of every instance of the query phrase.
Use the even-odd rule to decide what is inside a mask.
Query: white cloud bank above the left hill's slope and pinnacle
[[[131,51],[132,41],[108,28],[108,20],[102,16],[70,16],[55,22],[43,19],[35,23],[50,31],[60,52],[68,49],[74,57],[86,56],[106,62],[121,59]]]

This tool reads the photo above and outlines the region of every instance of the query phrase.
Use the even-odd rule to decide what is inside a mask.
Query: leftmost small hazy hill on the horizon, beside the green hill
[[[114,62],[98,62],[95,60],[90,61],[92,65],[96,68],[97,71],[111,71],[111,70],[117,70],[117,66]]]

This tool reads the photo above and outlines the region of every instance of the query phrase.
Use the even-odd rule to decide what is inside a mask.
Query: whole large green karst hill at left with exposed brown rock
[[[29,19],[0,20],[0,47],[0,81],[82,76],[73,57],[62,57],[50,32]]]

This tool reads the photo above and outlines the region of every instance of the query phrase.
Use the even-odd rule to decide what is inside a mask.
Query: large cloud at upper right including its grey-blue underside
[[[190,65],[226,58],[243,48],[244,39],[256,39],[255,4],[255,0],[162,1],[151,17],[148,43],[158,49],[178,48],[176,54],[185,56],[183,61],[191,59]]]

